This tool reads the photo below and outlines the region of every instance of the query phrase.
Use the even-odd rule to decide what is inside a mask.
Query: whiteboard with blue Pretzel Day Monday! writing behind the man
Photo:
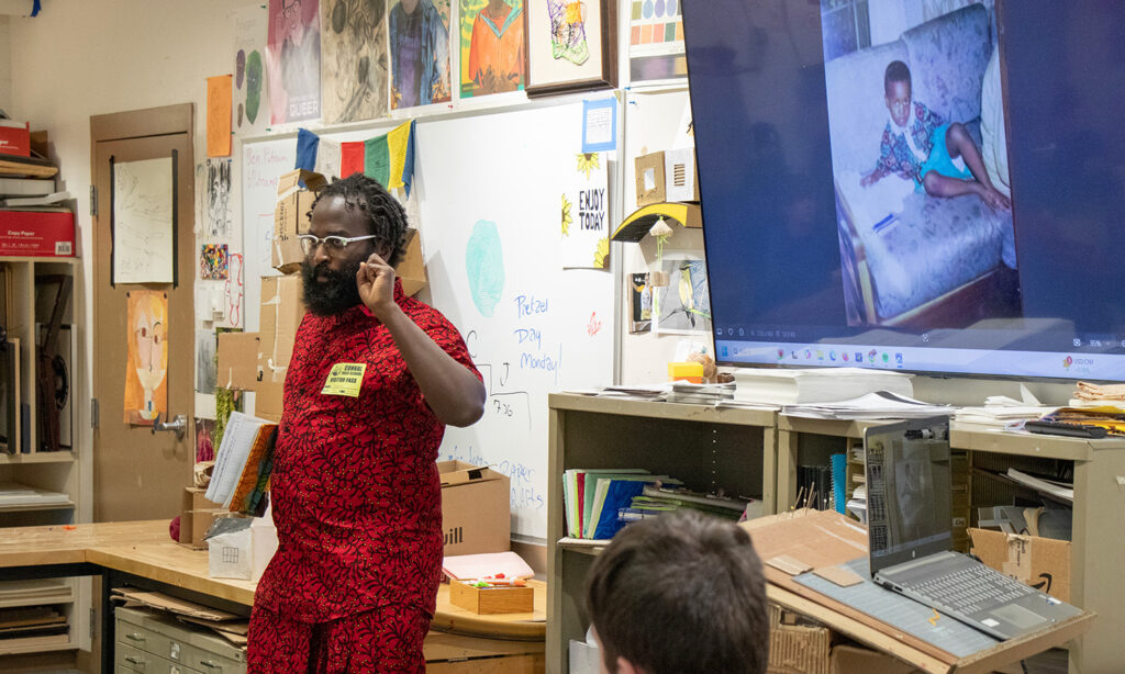
[[[352,140],[387,130],[328,137]],[[487,464],[508,475],[512,531],[542,539],[547,393],[613,377],[613,275],[564,271],[560,257],[560,203],[577,170],[582,102],[418,120],[415,130],[420,220],[412,224],[422,234],[430,275],[420,298],[465,336],[488,390],[484,418],[469,428],[448,428],[440,458]],[[292,138],[244,145],[248,326],[251,317],[256,321],[258,276],[269,271],[277,193],[262,167],[273,160],[284,164],[278,173],[288,171],[295,152]],[[612,173],[610,180],[614,184]],[[494,235],[498,255],[495,247],[480,247],[488,236],[474,238],[474,231]],[[470,282],[470,273],[483,283]]]

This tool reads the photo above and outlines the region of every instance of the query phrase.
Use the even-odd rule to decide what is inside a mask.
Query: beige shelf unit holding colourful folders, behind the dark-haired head
[[[590,625],[584,582],[600,550],[559,545],[565,536],[562,473],[570,468],[646,468],[698,491],[762,497],[775,512],[774,412],[717,409],[554,393],[548,399],[550,459],[547,527],[547,671],[569,671],[570,639]]]

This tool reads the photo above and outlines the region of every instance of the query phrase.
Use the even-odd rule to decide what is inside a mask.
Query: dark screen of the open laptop
[[[952,549],[948,418],[868,428],[864,455],[871,573]]]

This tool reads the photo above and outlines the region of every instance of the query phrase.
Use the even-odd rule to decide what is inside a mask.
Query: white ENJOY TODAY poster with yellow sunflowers
[[[578,154],[562,192],[562,268],[604,270],[610,258],[609,173],[598,153]]]

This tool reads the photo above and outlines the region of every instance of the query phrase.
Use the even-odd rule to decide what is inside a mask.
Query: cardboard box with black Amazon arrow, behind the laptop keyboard
[[[1070,541],[1038,536],[1023,536],[969,529],[973,554],[981,562],[1036,588],[1051,596],[1070,603]]]

